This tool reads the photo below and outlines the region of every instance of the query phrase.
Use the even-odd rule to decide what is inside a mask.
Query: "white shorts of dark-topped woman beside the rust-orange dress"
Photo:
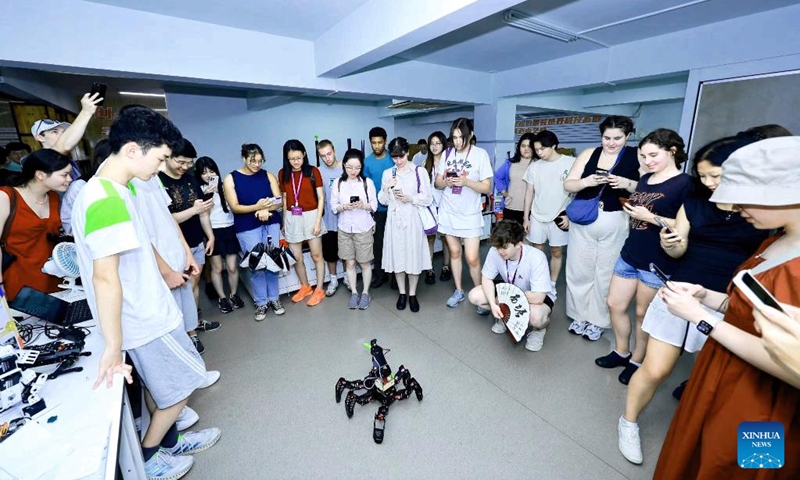
[[[722,314],[703,305],[709,317],[722,318]],[[683,347],[689,353],[699,352],[708,337],[697,330],[697,327],[686,320],[669,313],[664,300],[658,295],[650,302],[644,315],[642,330],[651,337],[668,343],[673,347]],[[686,342],[684,344],[684,342]]]

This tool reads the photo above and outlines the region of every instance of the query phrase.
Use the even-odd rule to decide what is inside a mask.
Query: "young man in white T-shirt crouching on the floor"
[[[519,287],[528,297],[530,326],[525,348],[538,352],[544,344],[544,335],[553,310],[550,270],[547,257],[541,250],[523,245],[525,231],[522,225],[512,220],[501,220],[495,225],[489,244],[492,248],[486,255],[481,272],[481,285],[469,292],[469,302],[478,307],[479,315],[492,314],[494,333],[505,333],[506,325],[497,303],[494,279],[499,275],[504,283]]]

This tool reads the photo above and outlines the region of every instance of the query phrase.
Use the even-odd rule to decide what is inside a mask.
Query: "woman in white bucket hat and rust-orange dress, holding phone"
[[[779,302],[800,305],[800,137],[763,140],[723,165],[711,201],[733,204],[758,229],[783,229],[740,269],[777,263],[755,277]],[[765,265],[766,267],[766,265]],[[680,282],[660,291],[670,312],[709,335],[656,466],[656,479],[800,478],[800,380],[775,362],[754,326],[753,306],[734,286],[713,292]],[[721,321],[700,304],[725,313]],[[780,469],[739,466],[739,424],[780,422]]]

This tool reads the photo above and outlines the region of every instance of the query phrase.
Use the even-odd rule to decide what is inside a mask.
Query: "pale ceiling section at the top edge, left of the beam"
[[[316,40],[369,0],[87,0],[282,37]]]

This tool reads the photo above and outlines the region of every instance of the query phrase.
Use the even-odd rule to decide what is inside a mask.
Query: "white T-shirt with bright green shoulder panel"
[[[97,176],[86,183],[72,209],[78,265],[96,319],[93,261],[119,255],[123,350],[141,347],[183,324],[183,315],[158,271],[142,221],[145,215],[139,214],[127,188]]]

